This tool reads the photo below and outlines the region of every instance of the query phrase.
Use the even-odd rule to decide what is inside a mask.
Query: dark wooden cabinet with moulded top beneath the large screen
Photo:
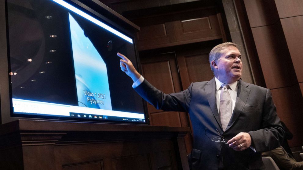
[[[184,136],[189,131],[184,127],[18,120],[0,125],[0,139],[6,139],[0,140],[0,169],[156,170],[159,165],[170,165],[188,170]],[[159,160],[165,162],[159,164]]]

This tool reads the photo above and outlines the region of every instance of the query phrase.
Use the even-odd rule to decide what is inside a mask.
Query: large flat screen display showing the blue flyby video
[[[7,0],[11,116],[146,123],[133,37],[69,1]]]

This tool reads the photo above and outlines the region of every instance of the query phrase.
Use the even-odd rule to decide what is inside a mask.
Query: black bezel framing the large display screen
[[[98,13],[96,11],[97,7],[99,6],[98,4],[95,3],[95,5],[97,5],[97,7],[94,5],[94,9],[90,8],[89,6],[87,6],[86,4],[78,1],[78,0],[64,0],[65,2],[68,2],[69,4],[75,6],[78,9],[81,9],[84,12],[87,12],[88,14],[90,14],[91,16],[100,19],[102,22],[108,24],[109,26],[113,27],[114,29],[118,30],[119,32],[127,35],[128,37],[132,38],[133,40],[133,46],[134,46],[134,50],[135,50],[135,58],[136,58],[136,64],[135,66],[139,69],[139,58],[138,58],[138,51],[136,50],[136,41],[135,41],[135,37],[133,36],[133,34],[124,29],[123,27],[121,27],[119,24],[113,22],[111,19],[105,17],[104,15],[101,15],[100,13]],[[92,5],[93,1],[90,1],[90,5]],[[3,4],[0,4],[1,7]],[[10,76],[8,76],[8,73],[10,72],[10,55],[9,55],[9,28],[8,28],[8,17],[7,17],[7,0],[4,1],[4,6],[5,6],[5,30],[0,30],[1,34],[4,35],[6,37],[6,42],[4,44],[4,46],[6,45],[6,52],[7,55],[4,55],[4,57],[7,57],[6,60],[5,58],[1,57],[0,58],[0,62],[4,62],[7,63],[7,69],[6,71],[1,71],[0,74],[6,74],[6,76],[4,77],[4,81],[6,78],[6,85],[5,88],[1,88],[0,90],[0,104],[1,104],[1,110],[0,110],[0,114],[1,114],[1,124],[5,123],[5,122],[11,122],[13,120],[16,119],[44,119],[44,120],[64,120],[64,121],[77,121],[77,122],[102,122],[102,123],[119,123],[119,124],[143,124],[143,125],[148,125],[149,121],[148,121],[148,114],[147,113],[147,108],[146,108],[146,102],[142,99],[142,104],[143,104],[143,108],[144,108],[144,116],[145,116],[145,122],[126,122],[126,121],[113,121],[113,120],[104,120],[104,119],[79,119],[76,117],[62,117],[62,116],[48,116],[48,115],[28,115],[28,114],[16,114],[13,113],[13,104],[12,104],[12,87],[10,85],[9,82],[11,82],[11,78]],[[104,12],[104,9],[100,7],[100,11]],[[2,8],[3,9],[3,8]],[[3,11],[1,12],[3,13]],[[1,51],[1,52],[5,52],[5,51]],[[3,55],[2,55],[3,56]],[[2,64],[1,64],[2,65]],[[5,70],[5,69],[4,69]],[[2,82],[3,83],[3,82]],[[1,83],[1,84],[2,84]],[[7,89],[8,88],[8,89]],[[2,98],[2,94],[5,92],[9,92],[9,113],[7,112],[2,112],[4,110],[7,110],[7,102],[3,102],[6,98],[6,95],[4,95],[4,97]],[[7,100],[6,100],[7,101]],[[4,108],[6,107],[6,109]]]

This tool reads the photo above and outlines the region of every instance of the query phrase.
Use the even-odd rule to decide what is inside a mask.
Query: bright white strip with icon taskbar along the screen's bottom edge
[[[119,121],[119,122],[139,122],[145,123],[143,113],[122,112],[97,108],[87,108],[41,101],[30,101],[13,98],[13,114],[24,115],[24,117],[60,117],[71,118],[73,120],[87,121]],[[22,117],[22,116],[21,116]],[[89,120],[90,119],[90,120]]]

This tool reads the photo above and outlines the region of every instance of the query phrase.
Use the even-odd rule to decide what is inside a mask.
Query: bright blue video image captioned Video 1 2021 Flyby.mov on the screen
[[[69,23],[78,106],[112,110],[106,64],[70,13]]]

